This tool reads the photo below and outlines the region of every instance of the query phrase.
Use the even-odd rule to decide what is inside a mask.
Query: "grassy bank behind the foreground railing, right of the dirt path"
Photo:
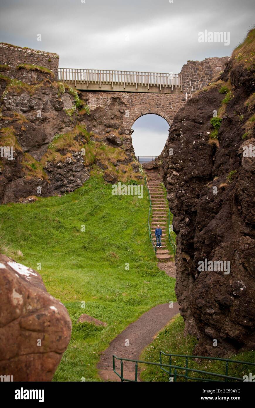
[[[174,321],[162,330],[156,339],[143,350],[141,355],[141,360],[143,361],[153,361],[159,362],[159,352],[160,350],[165,353],[171,354],[181,354],[181,355],[193,355],[193,349],[198,342],[196,337],[187,335],[184,337],[184,320],[180,315],[178,315]],[[245,353],[240,353],[229,357],[233,360],[248,361],[255,363],[255,352],[247,351]],[[167,356],[163,357],[162,362],[164,364],[169,364],[169,358]],[[172,364],[176,366],[185,367],[185,357],[172,357]],[[188,368],[194,368],[195,370],[210,371],[211,373],[225,374],[225,363],[224,361],[214,361],[214,360],[203,360],[198,361],[189,359]],[[143,371],[141,372],[141,379],[143,381],[169,381],[169,375],[164,373],[157,366],[145,366],[143,364]],[[254,374],[254,367],[247,366],[238,363],[229,363],[229,373],[232,377],[242,378],[243,375],[249,375],[249,373]],[[184,371],[178,370],[178,374],[185,374]],[[216,377],[210,377],[206,374],[198,374],[189,372],[189,377],[199,377],[207,379],[216,379]],[[184,378],[178,377],[177,381],[185,381]],[[192,380],[189,380],[192,381]],[[220,379],[219,379],[220,381]]]

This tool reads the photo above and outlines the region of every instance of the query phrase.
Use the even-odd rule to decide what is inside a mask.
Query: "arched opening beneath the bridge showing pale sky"
[[[155,160],[167,141],[169,124],[160,115],[149,113],[136,119],[132,126],[132,144],[140,163]]]

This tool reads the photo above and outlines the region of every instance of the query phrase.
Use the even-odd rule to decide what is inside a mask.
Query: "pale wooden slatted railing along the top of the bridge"
[[[182,74],[141,72],[141,71],[112,71],[109,69],[82,69],[82,68],[59,68],[58,80],[69,84],[107,84],[132,86],[161,86],[178,88],[182,90]]]

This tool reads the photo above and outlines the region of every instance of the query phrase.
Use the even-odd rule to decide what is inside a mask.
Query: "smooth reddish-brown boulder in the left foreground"
[[[70,341],[64,305],[40,275],[0,255],[0,375],[13,381],[51,381]]]

